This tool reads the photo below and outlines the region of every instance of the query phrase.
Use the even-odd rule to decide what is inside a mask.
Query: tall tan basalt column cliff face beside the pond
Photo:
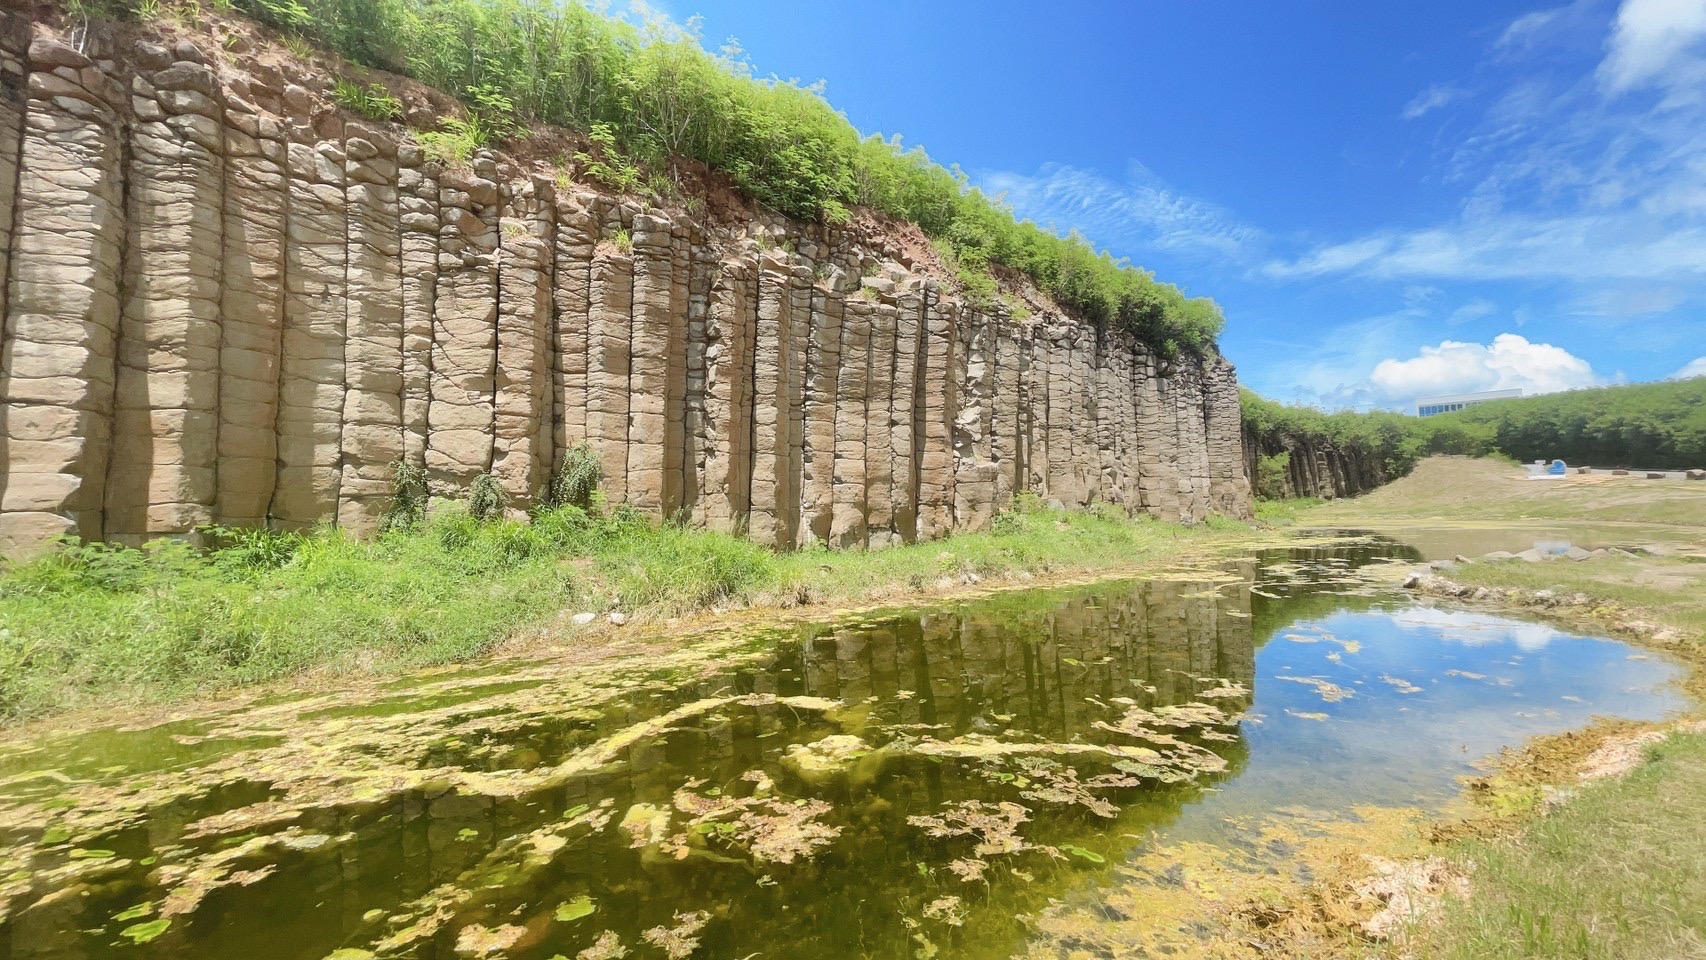
[[[3,552],[362,532],[397,460],[525,506],[582,440],[612,501],[776,546],[1249,513],[1230,365],[976,305],[894,225],[447,167],[278,49],[0,15]]]

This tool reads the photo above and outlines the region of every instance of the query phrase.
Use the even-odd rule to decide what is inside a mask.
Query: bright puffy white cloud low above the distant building
[[[1604,382],[1587,360],[1513,333],[1501,333],[1489,344],[1447,339],[1438,346],[1423,346],[1407,360],[1382,360],[1368,380],[1378,396],[1397,404],[1477,390],[1549,394]]]

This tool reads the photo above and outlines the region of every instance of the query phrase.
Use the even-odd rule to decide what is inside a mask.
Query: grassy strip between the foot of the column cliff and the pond
[[[67,546],[0,576],[0,721],[305,672],[452,663],[522,629],[575,645],[575,612],[645,622],[710,607],[909,599],[1129,568],[1232,532],[1249,530],[1051,512],[1022,498],[989,532],[870,552],[775,554],[575,506],[532,522],[450,510],[365,542],[336,530],[225,530],[208,551]]]

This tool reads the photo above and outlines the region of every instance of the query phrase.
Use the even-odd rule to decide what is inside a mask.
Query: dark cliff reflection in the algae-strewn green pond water
[[[1250,624],[1242,583],[1010,593],[925,616],[873,616],[809,629],[759,665],[655,684],[597,704],[537,711],[525,703],[527,692],[469,701],[420,730],[423,742],[409,762],[548,771],[621,743],[609,762],[566,778],[541,772],[537,788],[515,796],[466,788],[380,791],[365,803],[307,807],[273,824],[234,824],[223,834],[186,837],[186,829],[210,813],[264,801],[276,795],[276,784],[252,781],[176,800],[125,830],[80,839],[114,849],[131,866],[90,883],[87,897],[14,902],[12,921],[0,926],[7,938],[0,955],[319,960],[353,946],[449,958],[462,928],[512,924],[525,934],[510,957],[572,957],[599,931],[618,931],[635,945],[640,931],[703,909],[711,917],[699,933],[699,957],[756,950],[800,958],[909,955],[920,936],[954,955],[1005,957],[1025,934],[1018,914],[1075,887],[1099,870],[1097,859],[1119,859],[1133,844],[1123,834],[1170,820],[1204,783],[1235,774],[1245,760],[1244,743],[1174,732],[1225,757],[1227,772],[1094,791],[1111,803],[1112,817],[1059,795],[1025,796],[1037,776],[1068,783],[1117,776],[1105,755],[940,757],[923,755],[916,745],[1133,743],[1099,723],[1131,708],[1192,703],[1206,687],[1225,685],[1218,680],[1250,689]],[[541,687],[532,696],[548,701],[553,694]],[[810,697],[841,706],[814,708]],[[1245,694],[1218,706],[1237,711],[1247,703]],[[672,720],[659,723],[664,716]],[[372,760],[358,735],[363,720],[343,720],[355,725],[355,735],[339,762]],[[384,720],[396,721],[394,713]],[[643,735],[630,742],[635,730]],[[802,774],[790,752],[831,735],[858,737],[868,750],[843,769]],[[817,822],[839,834],[815,858],[775,863],[715,837],[694,839],[686,853],[667,842],[636,846],[619,829],[638,805],[670,812],[684,786],[699,796],[749,795],[752,781],[742,779],[749,771],[763,771],[776,798],[826,801]],[[984,856],[983,878],[962,880],[950,865],[976,859],[972,839],[928,837],[908,822],[962,801],[1022,805],[1029,817],[1020,827],[1024,842],[1054,847],[1058,856],[1036,849]],[[587,810],[607,812],[609,824],[597,832],[565,825],[565,812],[585,818]],[[679,824],[681,813],[672,815]],[[322,839],[264,846],[270,832]],[[270,873],[215,887],[152,943],[118,946],[114,933],[125,924],[109,917],[172,895],[160,866],[194,870],[256,837],[263,846],[252,854],[222,861],[227,880],[235,870]],[[1083,853],[1058,853],[1078,849]],[[140,866],[145,856],[159,863]],[[577,897],[590,897],[595,912],[556,921],[554,907]],[[920,921],[947,897],[959,897],[964,926]],[[430,921],[428,936],[392,940],[386,948],[387,938],[423,919]],[[909,926],[916,922],[923,926]],[[87,933],[96,929],[102,933]]]

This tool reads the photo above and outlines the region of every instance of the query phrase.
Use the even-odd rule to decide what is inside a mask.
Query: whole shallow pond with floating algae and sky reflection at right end
[[[0,957],[1013,957],[1158,842],[1440,807],[1501,747],[1680,706],[1662,658],[1356,576],[1387,558],[0,745]]]

